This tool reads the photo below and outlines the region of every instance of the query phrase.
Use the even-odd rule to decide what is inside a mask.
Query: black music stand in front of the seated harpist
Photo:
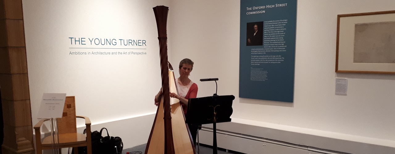
[[[188,124],[213,124],[213,154],[218,153],[216,123],[230,122],[233,95],[190,98],[186,114]]]

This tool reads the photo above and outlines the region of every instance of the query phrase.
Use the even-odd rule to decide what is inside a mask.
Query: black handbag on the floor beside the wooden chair
[[[122,149],[123,149],[122,139],[120,137],[110,136],[108,134],[107,128],[102,128],[100,130],[100,136],[102,135],[104,129],[107,131],[107,136],[100,139],[100,143],[99,143],[100,154],[116,154],[117,152],[122,153]],[[92,142],[92,148],[93,148],[93,142]],[[94,154],[99,154],[99,153],[94,153]]]

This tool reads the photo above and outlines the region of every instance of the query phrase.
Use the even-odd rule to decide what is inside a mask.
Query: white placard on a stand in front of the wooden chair
[[[62,118],[66,94],[44,93],[37,118]]]

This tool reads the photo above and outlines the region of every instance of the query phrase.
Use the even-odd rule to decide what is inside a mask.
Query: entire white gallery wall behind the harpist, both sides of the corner
[[[394,4],[393,0],[299,0],[295,97],[293,103],[286,103],[238,98],[239,0],[24,0],[32,123],[37,122],[43,93],[76,96],[77,115],[90,117],[94,129],[100,124],[154,114],[152,98],[160,88],[160,64],[152,7],[165,5],[169,6],[169,61],[174,68],[183,58],[195,62],[190,79],[199,86],[198,97],[212,96],[216,90],[213,81],[199,79],[219,78],[218,95],[236,97],[234,121],[395,141],[391,135],[395,126],[391,120],[395,116],[391,110],[395,107],[395,75],[335,73],[337,15],[387,11]],[[141,39],[147,46],[75,49],[107,46],[75,45],[70,37]],[[90,41],[86,39],[86,43]],[[147,54],[70,54],[135,50]],[[346,96],[335,95],[336,77],[348,78]],[[152,125],[149,120],[134,121],[148,131]]]

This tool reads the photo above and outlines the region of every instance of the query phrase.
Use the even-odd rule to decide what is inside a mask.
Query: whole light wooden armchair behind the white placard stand
[[[76,118],[84,118],[87,129],[87,134],[77,133],[77,122]],[[78,146],[87,146],[87,153],[92,154],[92,143],[90,136],[90,120],[86,116],[75,115],[75,97],[67,96],[64,103],[64,110],[62,118],[58,119],[58,136],[59,143],[55,144],[58,148],[70,148]],[[53,149],[51,143],[51,136],[45,137],[41,142],[40,128],[44,121],[49,119],[40,120],[35,126],[36,132],[36,150],[37,154],[42,154],[42,150]],[[78,148],[73,148],[74,154],[78,154]]]

